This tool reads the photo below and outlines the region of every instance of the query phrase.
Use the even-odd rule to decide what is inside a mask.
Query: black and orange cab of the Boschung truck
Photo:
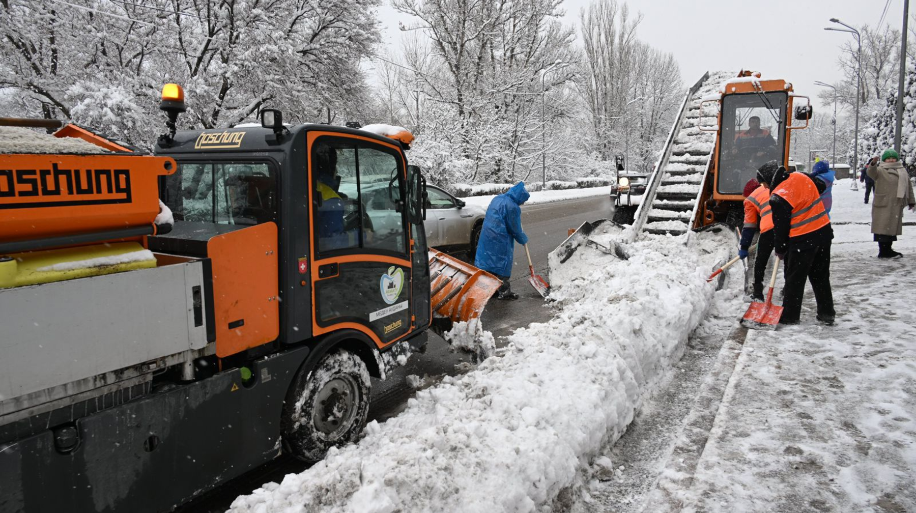
[[[160,187],[175,226],[150,248],[213,260],[217,355],[342,331],[385,349],[429,325],[422,199],[409,194],[422,176],[397,140],[245,126],[178,132],[156,153],[178,163]]]

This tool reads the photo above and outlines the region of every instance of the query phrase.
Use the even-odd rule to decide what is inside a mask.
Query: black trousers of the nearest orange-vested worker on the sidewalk
[[[811,282],[818,317],[833,318],[834,292],[830,289],[830,241],[811,249],[786,255],[786,286],[783,289],[780,321],[798,321],[802,314],[805,281]]]

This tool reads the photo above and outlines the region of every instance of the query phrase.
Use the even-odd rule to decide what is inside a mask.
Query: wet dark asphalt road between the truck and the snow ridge
[[[612,214],[612,203],[607,196],[523,205],[522,226],[529,236],[529,250],[535,272],[550,281],[547,254],[566,239],[568,230],[585,221],[610,219]],[[491,300],[481,318],[485,329],[496,336],[497,346],[506,344],[503,339],[517,328],[527,326],[531,322],[545,322],[551,318],[550,308],[541,300],[538,292],[531,288],[528,276],[525,250],[517,245],[511,284],[512,290],[518,293],[519,298],[511,301]],[[415,393],[407,383],[408,376],[428,376],[430,380],[426,380],[427,382],[434,381],[444,375],[455,376],[466,372],[470,368],[468,362],[468,355],[450,352],[448,344],[438,335],[431,333],[430,342],[423,353],[411,355],[406,366],[389,371],[385,381],[373,378],[369,420],[383,422],[398,415],[406,407],[407,400]],[[284,475],[300,473],[308,466],[288,455],[280,455],[276,460],[218,486],[176,511],[225,511],[235,497],[248,494],[264,483],[280,482]]]

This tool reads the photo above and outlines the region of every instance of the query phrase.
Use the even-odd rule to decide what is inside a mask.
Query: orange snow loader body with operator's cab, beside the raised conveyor
[[[725,91],[700,104],[701,111],[716,104],[718,115],[715,126],[704,125],[705,118],[698,126],[716,136],[694,229],[716,222],[740,226],[747,181],[769,160],[788,167],[791,132],[807,128],[812,118],[811,100],[794,93],[792,84],[782,79],[764,80],[758,72],[741,71],[723,85]],[[796,105],[800,98],[804,104]],[[793,118],[804,125],[792,125]]]

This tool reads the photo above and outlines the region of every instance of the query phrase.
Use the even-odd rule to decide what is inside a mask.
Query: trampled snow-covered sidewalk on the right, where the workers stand
[[[661,478],[683,479],[671,510],[916,511],[916,227],[894,246],[906,257],[878,260],[848,187],[834,187],[836,324],[814,321],[809,288],[801,325],[747,333],[696,474]]]

